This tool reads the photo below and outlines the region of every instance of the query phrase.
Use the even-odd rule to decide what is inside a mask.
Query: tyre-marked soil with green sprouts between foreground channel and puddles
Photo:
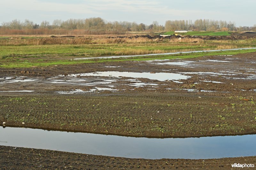
[[[51,95],[1,96],[0,100],[4,106],[1,121],[7,122],[7,126],[39,125],[44,128],[49,126],[55,129],[159,137],[255,131],[255,123],[251,122],[254,119],[254,105],[237,98],[199,99],[145,93],[129,97],[86,98],[77,95],[57,98]],[[232,103],[235,108],[232,108]],[[25,122],[25,125],[21,125],[21,122]]]

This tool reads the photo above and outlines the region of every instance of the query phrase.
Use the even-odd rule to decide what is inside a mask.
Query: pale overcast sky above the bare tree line
[[[0,0],[0,24],[13,19],[42,20],[101,17],[107,21],[217,19],[236,26],[256,24],[256,0]]]

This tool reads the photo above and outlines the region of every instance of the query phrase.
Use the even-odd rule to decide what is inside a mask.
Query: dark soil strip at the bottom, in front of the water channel
[[[197,160],[128,159],[0,146],[1,169],[232,169],[231,165],[234,163],[255,165],[256,157]]]

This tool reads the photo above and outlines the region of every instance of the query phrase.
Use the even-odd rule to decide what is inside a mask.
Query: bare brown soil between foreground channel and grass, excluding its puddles
[[[115,62],[62,65],[44,68],[2,69],[2,75],[28,76],[36,83],[0,84],[1,90],[35,90],[32,93],[1,92],[0,121],[7,126],[53,128],[71,131],[118,134],[147,137],[191,137],[236,135],[256,132],[255,53],[236,56],[209,56],[194,59],[193,67],[157,65],[148,62]],[[229,59],[226,59],[229,58]],[[206,62],[217,59],[223,62]],[[205,62],[200,62],[204,60]],[[178,60],[173,60],[178,61]],[[224,70],[224,72],[223,72]],[[230,71],[229,72],[225,72]],[[138,78],[145,83],[158,84],[134,87],[119,78],[111,83],[118,92],[84,94],[57,94],[56,91],[82,89],[92,86],[82,84],[49,84],[47,78],[58,74],[86,73],[93,71],[131,72],[217,72],[224,75],[189,74],[192,78],[159,82]],[[22,73],[21,73],[22,72]],[[237,73],[236,75],[232,75]],[[231,74],[231,75],[225,75]],[[82,77],[83,78],[83,77]],[[203,81],[219,81],[212,83]],[[195,84],[199,83],[199,84]],[[97,87],[106,87],[97,85]],[[193,89],[187,92],[182,89]],[[122,91],[125,90],[125,91]],[[202,90],[216,91],[203,92]],[[245,91],[242,91],[245,90]],[[25,122],[25,125],[22,124]]]

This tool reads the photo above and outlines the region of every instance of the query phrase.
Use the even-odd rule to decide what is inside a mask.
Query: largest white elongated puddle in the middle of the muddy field
[[[69,74],[68,77],[76,76],[101,76],[101,77],[131,77],[131,78],[148,78],[151,80],[165,81],[165,80],[180,80],[188,79],[190,76],[185,76],[178,73],[137,73],[137,72],[119,72],[119,71],[103,71],[103,72],[93,72],[93,73],[81,73],[81,74]]]

